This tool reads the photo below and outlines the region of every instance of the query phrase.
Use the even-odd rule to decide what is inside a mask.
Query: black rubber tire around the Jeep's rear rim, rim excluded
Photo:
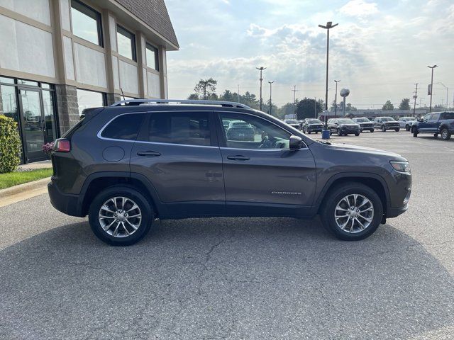
[[[131,235],[129,236],[114,237],[112,234],[106,232],[101,226],[101,222],[99,222],[99,211],[101,210],[102,205],[104,205],[104,203],[106,203],[109,198],[115,197],[128,198],[132,200],[133,203],[138,205],[138,209],[140,209],[142,219],[140,220],[140,222],[138,222],[138,229],[136,229],[134,232],[133,229],[129,229],[129,231],[131,232]],[[119,201],[118,204],[120,204]],[[131,208],[131,205],[129,205],[128,208]],[[92,231],[94,232],[96,237],[101,239],[101,241],[113,246],[130,246],[131,244],[135,244],[136,242],[140,241],[140,239],[145,237],[145,235],[150,231],[153,217],[153,207],[150,205],[147,198],[145,198],[145,196],[143,196],[143,194],[137,191],[135,188],[130,186],[111,186],[109,188],[106,188],[94,198],[89,208],[89,223],[92,227]],[[110,221],[111,220],[109,220],[109,222]],[[111,232],[112,229],[114,229],[114,226],[115,223],[111,229],[107,230]],[[122,229],[122,227],[120,227],[120,229]],[[120,232],[120,229],[118,230],[118,232]],[[124,230],[122,230],[121,232],[123,232],[123,234],[126,234]]]

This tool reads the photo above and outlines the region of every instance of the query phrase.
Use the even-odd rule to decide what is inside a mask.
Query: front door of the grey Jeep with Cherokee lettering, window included
[[[232,120],[250,125],[254,139],[230,140]],[[290,132],[248,113],[218,112],[216,123],[230,215],[292,215],[312,205],[314,157],[307,147],[290,151]]]

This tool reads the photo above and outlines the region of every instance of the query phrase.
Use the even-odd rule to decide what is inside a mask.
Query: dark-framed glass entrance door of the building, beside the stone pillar
[[[19,88],[19,112],[21,113],[24,159],[36,162],[47,159],[43,152],[45,120],[40,91]]]

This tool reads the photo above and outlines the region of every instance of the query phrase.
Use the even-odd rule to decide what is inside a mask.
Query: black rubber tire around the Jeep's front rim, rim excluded
[[[352,194],[360,194],[370,200],[373,206],[374,215],[370,225],[360,232],[350,233],[345,230],[342,230],[338,227],[336,220],[334,218],[334,213],[336,210],[336,205],[339,201],[345,196]],[[365,239],[377,230],[380,222],[382,221],[383,215],[383,205],[382,200],[377,195],[377,193],[372,190],[372,188],[365,186],[362,183],[357,182],[348,182],[343,183],[339,186],[334,187],[328,193],[326,193],[326,198],[321,206],[321,220],[323,225],[333,232],[338,239],[343,239],[345,241],[358,241],[360,239]]]

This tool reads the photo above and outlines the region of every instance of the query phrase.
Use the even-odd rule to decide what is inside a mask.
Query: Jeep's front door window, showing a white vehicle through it
[[[221,113],[227,147],[239,149],[284,149],[291,134],[268,120],[253,115]]]

